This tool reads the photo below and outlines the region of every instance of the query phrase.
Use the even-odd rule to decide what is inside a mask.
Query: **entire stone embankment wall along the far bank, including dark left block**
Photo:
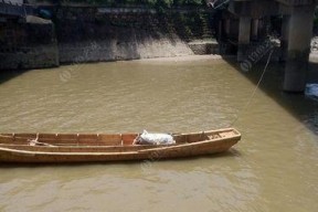
[[[42,8],[52,22],[34,17],[0,22],[0,70],[218,53],[215,42],[203,41],[213,36],[210,11]]]

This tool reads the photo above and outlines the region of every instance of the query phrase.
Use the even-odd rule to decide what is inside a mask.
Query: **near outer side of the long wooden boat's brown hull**
[[[29,146],[7,142],[0,144],[0,162],[71,163],[129,160],[156,161],[195,157],[229,150],[241,139],[241,134],[239,131],[234,130],[231,131],[231,134],[232,136],[229,137],[219,137],[216,139],[204,139],[192,142],[177,142],[176,145],[169,146]],[[198,137],[200,134],[191,135]]]

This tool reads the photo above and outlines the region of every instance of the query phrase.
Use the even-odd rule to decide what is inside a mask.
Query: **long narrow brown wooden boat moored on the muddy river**
[[[223,152],[241,139],[233,129],[172,134],[174,145],[132,145],[139,134],[0,134],[0,162],[61,163],[161,160]]]

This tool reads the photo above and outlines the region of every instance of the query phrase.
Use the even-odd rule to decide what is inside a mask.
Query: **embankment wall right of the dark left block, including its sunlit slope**
[[[121,11],[121,12],[120,12]],[[208,18],[197,11],[158,14],[141,10],[116,12],[94,8],[56,11],[61,63],[136,60],[193,55],[188,42],[212,36]],[[193,46],[193,45],[192,45]]]

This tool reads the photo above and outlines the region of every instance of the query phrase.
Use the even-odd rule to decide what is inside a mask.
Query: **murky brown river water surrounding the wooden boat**
[[[317,98],[283,93],[279,65],[254,93],[263,68],[153,60],[0,74],[1,132],[243,135],[227,153],[184,160],[1,165],[0,211],[316,212]]]

